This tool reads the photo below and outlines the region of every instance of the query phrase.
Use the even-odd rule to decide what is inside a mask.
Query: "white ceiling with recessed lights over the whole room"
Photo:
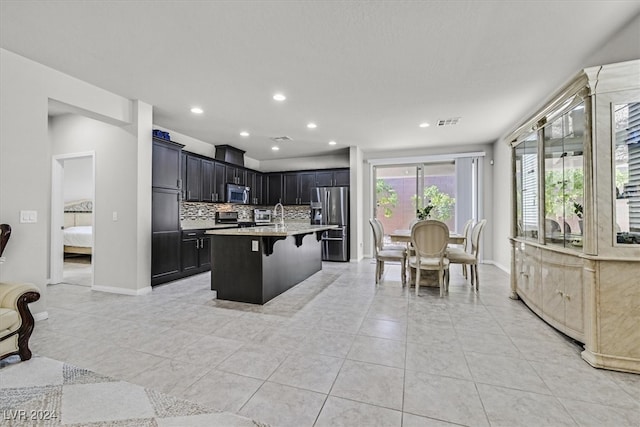
[[[493,142],[639,13],[638,1],[1,0],[0,45],[152,104],[158,126],[268,160]],[[273,152],[283,135],[293,142]]]

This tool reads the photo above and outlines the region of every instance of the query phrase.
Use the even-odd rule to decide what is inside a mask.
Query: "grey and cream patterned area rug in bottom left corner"
[[[0,363],[0,425],[266,426],[39,356],[26,362],[11,357]]]

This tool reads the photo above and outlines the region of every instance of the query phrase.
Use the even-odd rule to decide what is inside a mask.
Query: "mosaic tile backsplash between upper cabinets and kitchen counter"
[[[216,212],[237,211],[240,221],[253,221],[254,209],[271,209],[273,206],[234,205],[230,203],[180,202],[180,221],[214,221]],[[308,221],[309,206],[285,206],[285,221]],[[280,213],[278,212],[278,216]]]

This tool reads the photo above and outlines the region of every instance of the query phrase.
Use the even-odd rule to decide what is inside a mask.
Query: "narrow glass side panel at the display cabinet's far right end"
[[[615,236],[640,244],[640,102],[614,106]]]

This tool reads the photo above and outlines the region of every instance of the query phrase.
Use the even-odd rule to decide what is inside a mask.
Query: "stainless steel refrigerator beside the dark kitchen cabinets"
[[[312,188],[311,223],[339,225],[322,235],[322,260],[349,261],[349,187]]]

